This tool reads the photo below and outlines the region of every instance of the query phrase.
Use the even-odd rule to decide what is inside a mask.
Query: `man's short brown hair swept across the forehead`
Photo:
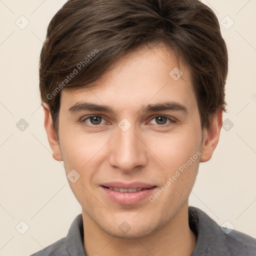
[[[149,42],[171,46],[191,70],[202,127],[225,110],[227,49],[208,6],[199,0],[68,0],[48,25],[39,64],[41,99],[56,132],[60,89],[89,86],[117,58]]]

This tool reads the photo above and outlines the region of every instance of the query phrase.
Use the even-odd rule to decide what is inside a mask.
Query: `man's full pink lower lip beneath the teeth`
[[[148,198],[150,194],[152,194],[153,190],[156,189],[156,187],[154,186],[148,189],[143,189],[140,191],[129,193],[129,192],[115,191],[115,190],[106,188],[104,186],[101,186],[101,188],[103,188],[104,192],[111,200],[119,204],[126,204],[126,205],[136,204],[142,201],[143,199]]]

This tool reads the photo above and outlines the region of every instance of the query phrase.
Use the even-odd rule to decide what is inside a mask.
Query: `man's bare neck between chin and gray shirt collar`
[[[163,227],[153,233],[139,238],[119,238],[104,232],[82,210],[83,244],[87,256],[104,255],[119,256],[164,256],[164,255],[191,255],[196,236],[188,225],[188,202]]]

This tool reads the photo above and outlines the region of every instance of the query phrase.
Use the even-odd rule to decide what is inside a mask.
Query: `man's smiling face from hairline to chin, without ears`
[[[150,234],[187,203],[202,130],[188,69],[180,65],[177,79],[176,69],[169,74],[174,67],[170,49],[145,47],[122,57],[95,87],[61,91],[60,151],[66,174],[80,175],[70,187],[83,217],[111,235]],[[165,110],[148,107],[167,102]]]

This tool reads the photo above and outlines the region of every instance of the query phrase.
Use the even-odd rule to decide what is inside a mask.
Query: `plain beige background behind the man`
[[[81,212],[62,163],[51,157],[38,90],[38,58],[46,27],[64,2],[0,0],[0,255],[4,256],[30,255],[58,240]],[[228,29],[221,25],[229,53],[228,113],[223,116],[229,126],[221,129],[212,159],[200,165],[189,204],[220,225],[228,220],[227,226],[256,238],[256,0],[204,2],[226,28],[234,21]],[[19,26],[26,20],[29,24],[20,29],[16,20]],[[16,126],[21,118],[28,123],[23,131]],[[21,224],[23,229],[17,229],[24,231],[21,220],[29,226],[24,234],[15,229]]]

